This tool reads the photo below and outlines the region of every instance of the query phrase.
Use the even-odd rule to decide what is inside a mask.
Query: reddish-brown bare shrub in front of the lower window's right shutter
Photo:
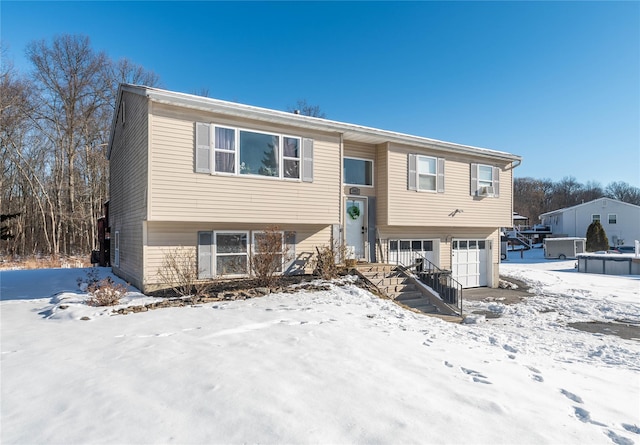
[[[251,270],[258,285],[273,286],[283,272],[284,264],[291,255],[284,240],[284,233],[278,226],[270,226],[255,236],[255,253],[251,256]]]

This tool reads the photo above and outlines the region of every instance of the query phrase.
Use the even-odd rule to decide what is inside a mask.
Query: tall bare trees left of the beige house
[[[0,69],[0,253],[86,254],[108,199],[106,159],[120,82],[157,86],[128,59],[112,60],[89,38],[28,44],[29,73],[2,51]]]

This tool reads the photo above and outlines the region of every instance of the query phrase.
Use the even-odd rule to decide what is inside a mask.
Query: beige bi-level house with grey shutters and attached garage
[[[200,276],[250,273],[278,226],[311,271],[316,247],[368,262],[422,255],[464,287],[496,286],[513,154],[123,84],[108,147],[113,271],[143,291],[166,252]]]

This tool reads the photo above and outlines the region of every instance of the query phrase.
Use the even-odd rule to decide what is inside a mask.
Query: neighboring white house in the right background
[[[585,237],[587,228],[599,220],[611,246],[633,245],[640,240],[640,206],[611,198],[598,198],[540,215],[554,236]]]

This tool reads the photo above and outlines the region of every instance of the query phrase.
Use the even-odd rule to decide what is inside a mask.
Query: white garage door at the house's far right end
[[[463,288],[488,285],[488,251],[486,240],[454,240],[451,252],[451,271]]]

